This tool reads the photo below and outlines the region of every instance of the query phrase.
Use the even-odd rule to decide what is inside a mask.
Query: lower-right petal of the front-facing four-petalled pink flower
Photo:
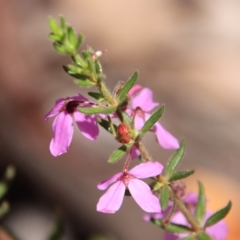
[[[159,200],[152,194],[150,187],[139,179],[131,179],[128,189],[137,204],[149,213],[160,212]]]

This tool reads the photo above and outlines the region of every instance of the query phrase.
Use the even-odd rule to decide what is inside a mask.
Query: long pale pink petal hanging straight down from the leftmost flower
[[[59,156],[68,151],[73,136],[72,117],[61,112],[53,121],[52,129],[54,138],[50,143],[50,151],[53,156]]]

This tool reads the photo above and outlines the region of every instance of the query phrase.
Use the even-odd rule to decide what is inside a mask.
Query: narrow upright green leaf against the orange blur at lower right
[[[197,201],[194,215],[200,224],[203,222],[205,218],[205,214],[206,214],[205,191],[202,183],[198,182],[198,201]]]

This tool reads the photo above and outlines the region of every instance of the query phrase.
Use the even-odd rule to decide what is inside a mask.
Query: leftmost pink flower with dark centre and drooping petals
[[[56,157],[68,151],[73,136],[73,119],[86,138],[90,140],[97,138],[99,129],[96,117],[85,115],[77,110],[79,105],[87,106],[87,104],[87,99],[81,94],[61,98],[45,116],[45,120],[48,120],[57,115],[52,124],[54,137],[50,143],[50,151],[53,156]]]

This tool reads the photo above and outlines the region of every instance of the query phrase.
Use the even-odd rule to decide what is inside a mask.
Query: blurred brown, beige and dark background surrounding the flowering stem
[[[101,57],[108,86],[139,70],[139,83],[166,104],[162,124],[187,152],[181,169],[195,169],[186,182],[201,180],[209,208],[233,200],[226,218],[229,239],[240,234],[240,1],[238,0],[11,0],[0,1],[0,167],[17,168],[7,196],[12,208],[4,223],[22,240],[47,239],[56,209],[64,212],[66,240],[106,234],[115,240],[161,239],[161,230],[142,221],[142,210],[125,198],[115,215],[96,212],[99,181],[121,169],[107,164],[119,146],[102,131],[95,142],[79,131],[67,154],[49,152],[54,101],[78,89],[62,70],[70,59],[57,54],[47,35],[48,16],[63,14],[84,46],[107,49]],[[149,134],[146,144],[163,163],[171,151]],[[4,239],[5,240],[5,239]]]

